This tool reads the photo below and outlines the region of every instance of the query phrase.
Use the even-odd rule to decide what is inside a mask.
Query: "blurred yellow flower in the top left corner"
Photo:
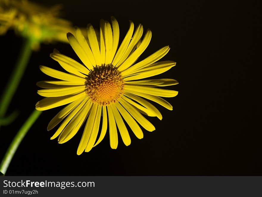
[[[58,18],[59,10],[59,5],[47,8],[26,0],[0,0],[0,35],[14,29],[32,39],[35,50],[41,42],[68,42],[71,22]]]

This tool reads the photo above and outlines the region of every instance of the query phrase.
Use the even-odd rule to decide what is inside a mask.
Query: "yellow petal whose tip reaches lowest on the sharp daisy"
[[[92,104],[91,111],[90,111],[89,117],[87,119],[85,129],[84,129],[84,132],[82,134],[82,138],[80,140],[80,143],[79,143],[79,146],[78,146],[78,149],[77,149],[77,155],[82,154],[83,151],[85,150],[85,147],[86,147],[87,142],[90,138],[91,131],[92,131],[92,128],[93,128],[94,120],[95,120],[95,117],[96,117],[97,107],[98,107],[97,104]]]

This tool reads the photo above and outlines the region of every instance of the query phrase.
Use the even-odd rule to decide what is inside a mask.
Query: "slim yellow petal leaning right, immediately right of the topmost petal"
[[[130,21],[129,30],[127,31],[127,34],[124,37],[124,40],[122,41],[120,47],[118,48],[116,52],[116,56],[114,57],[113,62],[112,62],[113,65],[116,65],[118,63],[118,61],[122,58],[125,51],[127,50],[128,44],[130,43],[130,40],[132,38],[133,31],[134,31],[134,23]]]

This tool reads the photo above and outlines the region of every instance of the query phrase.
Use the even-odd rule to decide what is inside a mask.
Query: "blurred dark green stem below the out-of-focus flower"
[[[32,41],[30,38],[24,40],[23,46],[21,47],[21,51],[19,57],[17,59],[16,65],[14,67],[13,72],[7,82],[7,85],[3,91],[0,100],[0,118],[4,118],[5,113],[8,109],[8,106],[15,94],[15,91],[21,81],[21,78],[24,74],[26,69],[26,65],[30,59],[32,48],[31,48]]]

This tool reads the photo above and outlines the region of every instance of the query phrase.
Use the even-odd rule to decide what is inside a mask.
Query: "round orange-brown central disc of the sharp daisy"
[[[102,64],[90,71],[85,81],[86,93],[93,103],[110,105],[124,94],[124,80],[112,64]]]

